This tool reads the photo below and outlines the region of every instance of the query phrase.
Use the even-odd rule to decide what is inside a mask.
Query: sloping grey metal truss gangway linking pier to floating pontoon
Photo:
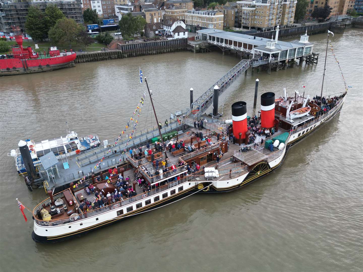
[[[190,114],[193,114],[194,116],[202,115],[213,103],[214,86],[217,85],[219,87],[219,95],[221,95],[239,75],[250,67],[250,65],[251,61],[249,59],[242,59],[238,62],[236,66],[229,70],[227,74],[221,77],[215,84],[212,85],[212,87],[210,87],[204,94],[192,103],[191,110],[188,112],[187,116]]]

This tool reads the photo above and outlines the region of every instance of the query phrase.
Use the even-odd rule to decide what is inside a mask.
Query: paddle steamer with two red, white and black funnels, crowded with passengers
[[[165,149],[157,142],[139,147],[127,156],[126,164],[71,183],[58,194],[49,190],[49,198],[33,210],[32,238],[57,242],[194,193],[239,189],[276,170],[291,146],[339,114],[346,95],[345,91],[310,99],[298,92],[288,96],[285,91],[275,99],[273,92],[262,94],[255,132],[248,129],[246,103],[233,103],[228,134],[233,133],[234,144],[224,129],[198,128],[193,120],[185,119],[189,129],[168,141]]]

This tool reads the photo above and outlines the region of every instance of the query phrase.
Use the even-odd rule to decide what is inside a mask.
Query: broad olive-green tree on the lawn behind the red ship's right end
[[[56,22],[48,32],[49,38],[55,44],[71,45],[77,42],[79,33],[83,27],[76,23],[73,19],[63,18]]]

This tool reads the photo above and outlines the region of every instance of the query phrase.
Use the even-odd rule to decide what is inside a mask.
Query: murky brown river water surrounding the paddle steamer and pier
[[[241,75],[219,98],[219,111],[244,100],[253,115],[259,95],[287,87],[320,94],[326,35],[311,36],[318,65]],[[46,198],[28,191],[7,157],[21,139],[65,135],[117,136],[142,92],[139,67],[154,92],[160,120],[189,106],[239,59],[220,52],[152,55],[77,64],[47,73],[0,78],[1,271],[362,271],[362,44],[363,32],[331,37],[347,84],[342,111],[289,150],[281,168],[232,193],[195,194],[91,234],[56,244],[31,238],[16,198],[30,209]],[[328,52],[324,93],[344,91]],[[302,86],[306,86],[302,90]],[[258,105],[260,98],[258,98]],[[155,124],[146,99],[138,129]],[[210,109],[211,111],[211,109]]]

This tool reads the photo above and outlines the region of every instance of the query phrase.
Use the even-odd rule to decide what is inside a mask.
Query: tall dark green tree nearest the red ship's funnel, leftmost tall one
[[[47,37],[44,13],[40,9],[30,6],[25,21],[26,32],[33,41],[43,41]]]

